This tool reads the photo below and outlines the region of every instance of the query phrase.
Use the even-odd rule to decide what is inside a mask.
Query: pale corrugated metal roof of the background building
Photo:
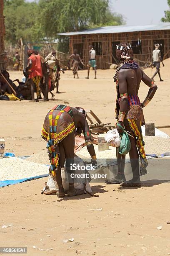
[[[59,33],[61,36],[76,36],[86,34],[107,34],[107,33],[126,33],[136,31],[150,31],[150,30],[166,30],[170,29],[170,22],[160,23],[157,25],[145,25],[145,26],[107,26],[100,28],[87,29],[83,31]]]

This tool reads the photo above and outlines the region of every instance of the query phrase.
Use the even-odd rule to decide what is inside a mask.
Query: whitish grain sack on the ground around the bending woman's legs
[[[74,163],[79,164],[80,166],[84,166],[84,161],[78,156],[74,157]],[[75,170],[75,174],[85,174],[86,172],[87,171],[82,171],[82,170],[78,170],[78,169]],[[61,178],[62,178],[62,185],[64,187],[64,190],[67,192],[69,182],[68,182],[67,172],[65,172],[65,168],[61,169]],[[87,179],[87,178],[77,178],[77,177],[75,177],[74,187],[75,187],[75,189],[84,190],[84,183],[85,183],[87,192],[91,193],[92,189],[90,187],[89,182],[90,182],[90,180]],[[48,188],[47,188],[47,186],[48,186]],[[45,189],[45,187],[46,187],[46,189]],[[48,181],[47,181],[47,184],[46,184],[45,187],[42,189],[42,191],[45,190],[43,192],[43,194],[45,194],[45,195],[54,195],[58,191],[57,182],[55,180],[53,180],[50,175],[48,177]],[[85,190],[84,190],[84,193],[86,193]]]

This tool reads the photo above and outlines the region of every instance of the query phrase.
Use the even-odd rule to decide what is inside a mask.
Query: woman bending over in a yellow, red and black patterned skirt
[[[72,108],[66,105],[57,105],[50,110],[44,120],[42,138],[47,141],[47,149],[51,166],[49,173],[58,185],[58,197],[64,197],[65,191],[62,186],[61,167],[66,161],[66,171],[69,178],[68,196],[81,195],[84,192],[74,188],[70,164],[74,163],[75,136],[83,131],[87,150],[91,156],[92,164],[96,164],[96,155],[89,125],[86,120],[86,112],[83,108]],[[74,173],[73,173],[74,174]],[[73,175],[74,176],[74,175]]]

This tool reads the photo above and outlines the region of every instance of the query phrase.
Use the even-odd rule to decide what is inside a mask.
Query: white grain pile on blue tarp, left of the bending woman
[[[48,173],[48,166],[17,157],[0,159],[0,180],[22,179]]]

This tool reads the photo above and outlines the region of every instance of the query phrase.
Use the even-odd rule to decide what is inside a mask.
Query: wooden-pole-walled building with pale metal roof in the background
[[[132,45],[134,58],[140,65],[152,60],[154,44],[160,44],[164,59],[170,57],[170,23],[147,26],[108,26],[86,31],[60,33],[69,36],[70,52],[77,49],[85,64],[88,63],[88,46],[96,50],[97,68],[107,69],[116,63],[115,49],[120,42]]]

